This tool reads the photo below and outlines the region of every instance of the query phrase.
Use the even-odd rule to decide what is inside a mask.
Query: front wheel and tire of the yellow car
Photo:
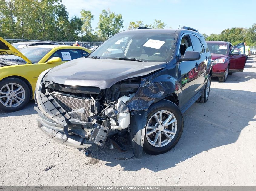
[[[28,85],[19,78],[0,81],[0,110],[14,112],[21,110],[29,101]]]

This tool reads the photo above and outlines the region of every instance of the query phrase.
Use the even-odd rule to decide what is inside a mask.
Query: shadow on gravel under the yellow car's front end
[[[36,114],[37,112],[33,108],[34,105],[35,105],[35,101],[30,100],[28,102],[28,104],[22,110],[15,111],[15,112],[9,112],[9,113],[0,111],[0,118],[5,117],[5,116],[23,116],[23,115]]]

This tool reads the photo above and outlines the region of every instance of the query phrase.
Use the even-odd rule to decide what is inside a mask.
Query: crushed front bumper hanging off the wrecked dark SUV
[[[38,113],[38,127],[55,141],[75,148],[85,148],[94,145],[88,139],[90,131],[85,131],[83,124],[72,123],[72,118],[52,98],[50,94],[35,91],[34,109]],[[96,124],[85,123],[89,129]],[[96,125],[97,126],[97,125]]]

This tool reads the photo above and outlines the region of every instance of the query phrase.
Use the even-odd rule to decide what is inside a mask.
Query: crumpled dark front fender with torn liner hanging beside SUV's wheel
[[[176,74],[170,73],[170,70],[164,69],[142,78],[137,92],[126,102],[126,106],[131,111],[130,139],[136,158],[141,158],[142,156],[147,110],[150,105],[169,95],[173,95],[173,93],[179,97],[181,85],[177,79],[172,77]]]

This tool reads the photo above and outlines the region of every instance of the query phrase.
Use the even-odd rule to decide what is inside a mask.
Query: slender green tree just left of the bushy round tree
[[[81,20],[83,21],[82,34],[86,37],[91,37],[93,31],[91,21],[94,19],[94,16],[91,14],[91,11],[85,11],[84,9],[80,13]]]

